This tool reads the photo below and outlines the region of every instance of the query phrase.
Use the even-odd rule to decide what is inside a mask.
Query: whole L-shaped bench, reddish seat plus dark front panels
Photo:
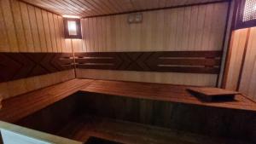
[[[87,88],[93,91],[80,91],[71,95],[79,89]],[[55,135],[61,135],[58,133],[58,130],[61,130],[61,136],[67,136],[75,140],[86,138],[84,136],[88,131],[84,131],[84,129],[80,131],[84,127],[78,121],[73,122],[72,120],[81,115],[89,114],[207,135],[212,137],[207,139],[210,143],[211,141],[212,143],[220,142],[220,139],[214,139],[214,137],[234,140],[230,143],[236,143],[236,140],[247,141],[246,143],[255,141],[253,134],[256,120],[255,110],[244,109],[244,107],[250,105],[249,100],[239,96],[236,101],[230,103],[211,103],[215,106],[195,104],[193,101],[198,100],[194,100],[194,96],[187,95],[185,88],[185,86],[171,84],[109,81],[102,83],[98,80],[76,79],[4,101],[3,104],[12,101],[19,107],[14,108],[4,105],[5,108],[0,111],[0,118],[12,117],[13,120],[19,121],[15,121],[15,124],[21,124],[34,130],[43,130]],[[45,97],[48,99],[45,99]],[[228,107],[225,107],[224,104]],[[26,111],[23,108],[21,109],[20,105],[26,107]],[[255,107],[255,103],[253,105]],[[13,112],[14,114],[7,114]],[[26,116],[23,114],[24,112],[27,112]],[[20,117],[20,115],[24,117]],[[40,119],[40,123],[38,123],[38,119]],[[79,120],[82,120],[83,123],[96,122],[96,119]],[[63,125],[68,127],[70,123],[72,128],[63,128]],[[112,127],[111,125],[108,126]],[[104,126],[102,128],[107,129],[108,127]],[[116,130],[116,127],[113,127],[113,129]],[[79,130],[81,137],[76,135],[76,130]],[[248,131],[250,131],[249,134]],[[133,132],[131,130],[131,133]],[[224,139],[222,140],[225,141]],[[84,139],[79,140],[85,141]],[[198,140],[198,137],[196,137],[196,140]],[[219,142],[214,142],[218,140]],[[192,143],[196,143],[195,139]]]

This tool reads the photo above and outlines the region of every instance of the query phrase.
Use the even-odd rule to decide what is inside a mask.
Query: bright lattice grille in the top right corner
[[[242,21],[256,20],[256,0],[246,0]]]

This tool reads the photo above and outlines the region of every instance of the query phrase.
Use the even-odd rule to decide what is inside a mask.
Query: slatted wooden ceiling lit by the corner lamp
[[[227,0],[20,0],[55,12],[81,17],[120,14],[145,9],[161,9],[196,3],[214,3]]]

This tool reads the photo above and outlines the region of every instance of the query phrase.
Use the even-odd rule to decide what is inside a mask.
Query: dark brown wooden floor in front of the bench
[[[125,144],[249,144],[91,116],[74,119],[58,135],[84,142],[95,136]]]

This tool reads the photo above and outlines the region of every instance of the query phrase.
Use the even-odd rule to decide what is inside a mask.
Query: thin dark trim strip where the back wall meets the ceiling
[[[93,17],[111,16],[111,15],[119,15],[119,14],[141,13],[141,12],[156,11],[156,10],[163,10],[163,9],[177,9],[177,8],[192,7],[192,6],[198,6],[198,5],[207,5],[207,4],[213,4],[213,3],[227,3],[230,1],[231,0],[218,0],[218,1],[207,2],[207,3],[192,3],[192,4],[185,4],[185,5],[178,5],[178,6],[172,6],[172,7],[157,8],[157,9],[142,9],[142,10],[126,11],[126,12],[122,12],[122,13],[91,15],[91,16],[85,16],[83,18],[93,18]]]

